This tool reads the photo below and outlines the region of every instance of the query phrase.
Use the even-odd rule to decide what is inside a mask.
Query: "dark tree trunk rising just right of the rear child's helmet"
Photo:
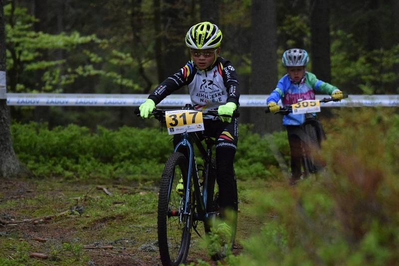
[[[329,0],[311,0],[310,10],[312,72],[331,82]]]

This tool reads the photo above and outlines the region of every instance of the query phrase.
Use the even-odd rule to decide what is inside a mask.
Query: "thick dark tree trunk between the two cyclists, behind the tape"
[[[252,1],[250,94],[266,98],[277,83],[277,19],[275,0]],[[264,108],[251,108],[250,122],[259,134],[281,130],[281,116],[266,115]]]

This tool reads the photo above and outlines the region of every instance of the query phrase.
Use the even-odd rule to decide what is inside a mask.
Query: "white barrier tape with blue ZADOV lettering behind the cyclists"
[[[241,95],[241,107],[265,107],[269,95]],[[68,94],[68,93],[6,93],[7,105],[22,106],[139,106],[148,94]],[[330,97],[317,95],[316,99]],[[191,103],[188,94],[172,94],[158,106],[184,106]],[[399,95],[349,95],[325,107],[399,106]]]

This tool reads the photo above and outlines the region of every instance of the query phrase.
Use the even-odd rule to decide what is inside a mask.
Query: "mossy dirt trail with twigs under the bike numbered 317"
[[[1,182],[0,264],[12,260],[27,265],[160,265],[157,186],[101,184],[109,193],[97,186],[57,180]],[[259,228],[247,216],[247,207],[247,202],[240,204],[245,211],[239,214],[235,254],[242,251],[239,241]],[[187,263],[200,259],[216,265],[200,242],[193,232]],[[30,258],[33,252],[49,258]]]

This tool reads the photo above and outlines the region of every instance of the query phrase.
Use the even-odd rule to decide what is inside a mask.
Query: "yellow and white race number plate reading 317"
[[[166,111],[169,135],[203,130],[202,112],[194,110]]]

